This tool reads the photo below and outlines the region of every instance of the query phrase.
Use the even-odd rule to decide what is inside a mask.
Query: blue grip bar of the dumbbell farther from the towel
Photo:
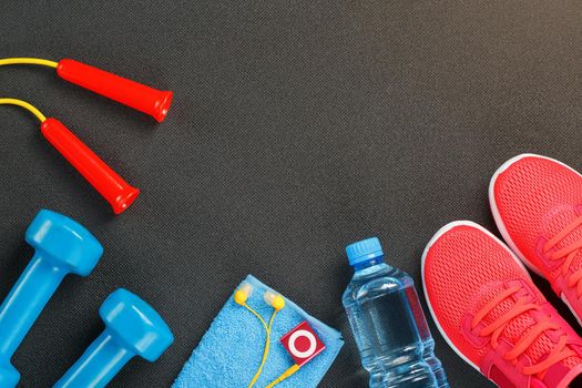
[[[67,270],[34,254],[0,306],[0,361],[12,357],[65,275]]]

